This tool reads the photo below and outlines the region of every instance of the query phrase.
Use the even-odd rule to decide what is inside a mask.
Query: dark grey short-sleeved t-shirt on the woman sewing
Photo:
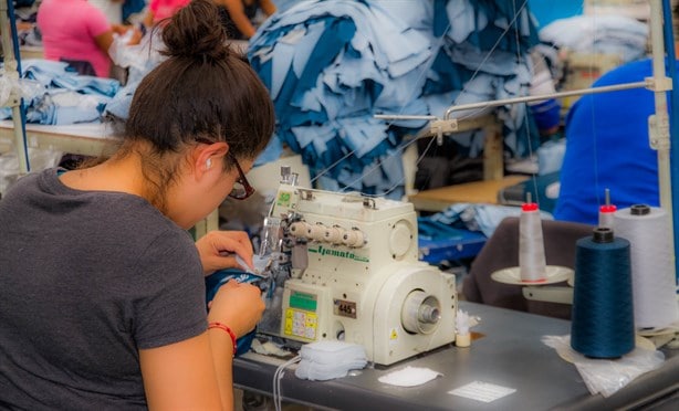
[[[146,408],[138,350],[206,328],[194,241],[146,200],[56,169],[0,200],[0,408]]]

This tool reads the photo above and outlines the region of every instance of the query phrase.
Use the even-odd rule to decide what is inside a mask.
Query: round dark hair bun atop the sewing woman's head
[[[192,0],[163,27],[164,54],[221,60],[229,54],[227,34],[212,0]]]

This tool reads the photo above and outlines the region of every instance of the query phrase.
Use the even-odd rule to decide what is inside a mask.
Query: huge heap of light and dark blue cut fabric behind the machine
[[[426,122],[374,115],[442,117],[452,104],[527,94],[535,27],[525,7],[506,4],[315,0],[274,14],[249,49],[276,110],[272,146],[302,154],[325,189],[399,198],[401,140]],[[523,156],[524,108],[499,116],[508,151]],[[452,138],[479,154],[481,139]]]

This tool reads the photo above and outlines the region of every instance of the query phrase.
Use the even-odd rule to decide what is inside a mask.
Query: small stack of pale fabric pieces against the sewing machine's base
[[[344,341],[310,342],[300,349],[302,360],[295,376],[305,380],[332,380],[367,365],[363,346]]]

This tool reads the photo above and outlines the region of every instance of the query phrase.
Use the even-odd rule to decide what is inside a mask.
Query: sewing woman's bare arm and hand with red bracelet
[[[260,289],[230,281],[210,304],[208,322],[228,326],[242,337],[264,312]],[[149,409],[231,410],[233,342],[222,328],[187,340],[139,350]]]

